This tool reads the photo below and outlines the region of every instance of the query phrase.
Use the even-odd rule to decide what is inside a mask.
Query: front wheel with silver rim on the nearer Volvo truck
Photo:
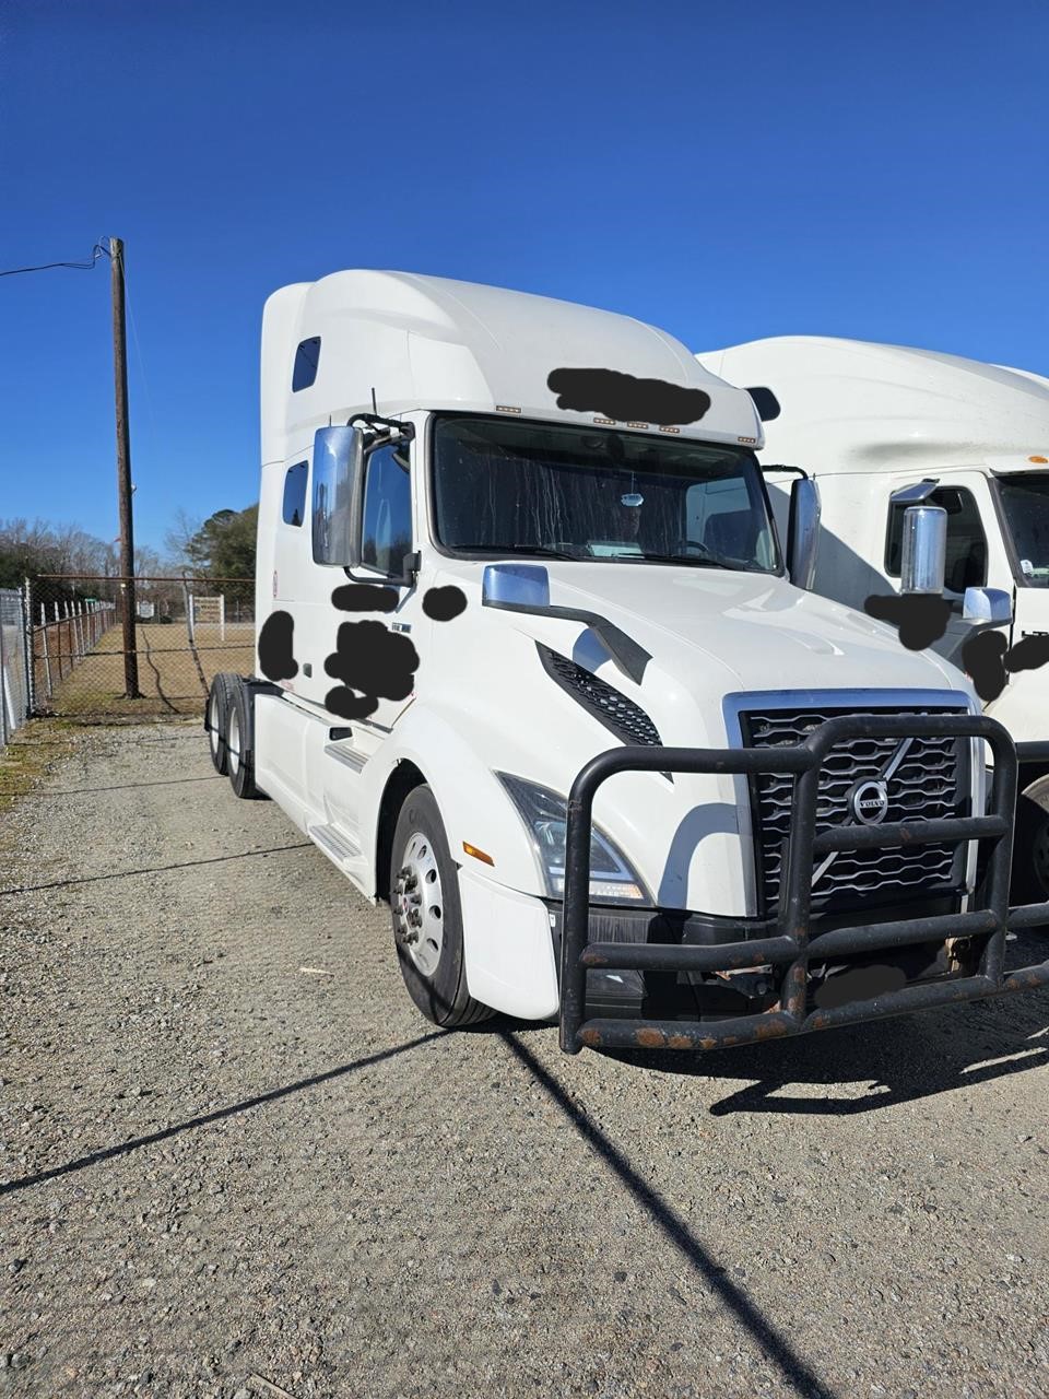
[[[410,792],[397,817],[390,914],[404,985],[427,1020],[453,1030],[494,1014],[467,990],[459,877],[428,786]]]

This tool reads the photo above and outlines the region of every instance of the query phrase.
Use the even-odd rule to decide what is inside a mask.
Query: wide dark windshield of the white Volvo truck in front
[[[780,569],[757,463],[734,446],[439,418],[434,505],[456,553]]]

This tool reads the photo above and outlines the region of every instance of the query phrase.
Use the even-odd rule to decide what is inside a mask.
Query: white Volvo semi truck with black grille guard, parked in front
[[[379,271],[267,301],[257,673],[211,753],[389,902],[435,1023],[709,1049],[1049,982],[1004,960],[1049,915],[1007,901],[1007,733],[792,583],[814,492],[787,569],[761,432],[624,316]]]

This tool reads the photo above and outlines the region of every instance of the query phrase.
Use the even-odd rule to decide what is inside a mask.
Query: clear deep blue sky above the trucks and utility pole
[[[338,267],[1049,374],[1048,46],[1024,0],[0,0],[0,267],[126,241],[154,546],[256,499],[263,301]],[[108,277],[0,280],[0,516],[116,534]]]

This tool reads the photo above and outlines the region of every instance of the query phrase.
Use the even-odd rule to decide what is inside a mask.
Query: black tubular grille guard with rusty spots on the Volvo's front
[[[843,739],[880,737],[982,739],[994,755],[994,781],[986,816],[909,820],[891,825],[842,825],[815,834],[820,768]],[[592,943],[590,830],[597,788],[617,772],[709,772],[793,776],[790,834],[786,841],[783,893],[775,935],[713,947],[669,943]],[[955,1002],[1004,996],[1049,985],[1049,961],[1006,972],[1006,935],[1049,925],[1049,902],[1008,907],[1013,821],[1017,802],[1017,754],[1007,730],[986,715],[848,715],[827,719],[804,743],[772,748],[622,747],[599,753],[579,772],[568,797],[565,832],[565,905],[561,942],[561,1048],[720,1049],[860,1020],[881,1020]],[[831,851],[987,841],[990,855],[979,908],[950,915],[897,919],[836,928],[810,939],[813,862]],[[740,921],[744,935],[744,921]],[[745,936],[745,935],[744,935]],[[922,942],[965,937],[982,940],[976,975],[904,986],[870,1000],[807,1009],[811,958],[867,953]],[[586,974],[621,971],[718,972],[771,964],[779,970],[779,1000],[771,1010],[732,1020],[586,1018]]]

